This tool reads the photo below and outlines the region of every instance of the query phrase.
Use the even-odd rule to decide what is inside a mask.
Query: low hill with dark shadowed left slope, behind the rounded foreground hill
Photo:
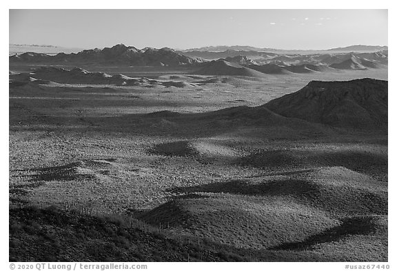
[[[300,171],[298,171],[300,172]],[[272,180],[233,180],[207,183],[191,187],[179,187],[168,190],[180,197],[189,193],[230,193],[259,197],[293,198],[311,208],[319,208],[334,214],[366,215],[387,214],[387,192],[370,186],[349,187],[334,185],[329,181],[316,181],[287,177]]]

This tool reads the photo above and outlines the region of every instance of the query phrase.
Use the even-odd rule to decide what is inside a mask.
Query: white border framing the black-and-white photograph
[[[150,3],[148,3],[150,2]],[[7,1],[1,3],[1,28],[3,36],[8,34],[8,9],[38,9],[38,8],[105,8],[105,9],[137,9],[137,8],[156,8],[156,9],[181,9],[181,8],[204,8],[204,9],[389,9],[389,265],[390,270],[396,270],[397,263],[395,261],[394,254],[396,254],[396,234],[394,229],[396,228],[394,206],[396,206],[396,200],[394,193],[396,192],[396,185],[394,180],[396,179],[396,168],[394,156],[396,154],[396,130],[395,130],[395,119],[396,119],[396,106],[394,103],[396,100],[396,83],[393,75],[395,74],[396,58],[394,55],[395,50],[395,34],[391,32],[391,26],[397,26],[396,23],[396,9],[392,4],[393,1],[314,1],[314,0],[284,0],[284,1],[214,1],[214,0],[201,0],[201,1],[79,1],[79,0],[68,0],[68,1]],[[1,223],[1,265],[3,270],[9,270],[8,265],[8,74],[6,63],[8,63],[8,44],[3,41],[1,43],[3,54],[1,66],[1,214],[5,219]],[[6,47],[7,46],[7,47]],[[7,57],[7,59],[6,59]],[[390,140],[391,139],[391,140]],[[199,270],[201,268],[216,269],[216,268],[227,268],[230,270],[240,270],[245,268],[252,268],[258,270],[344,270],[344,266],[347,263],[148,263],[150,270]],[[354,264],[354,263],[349,263]]]

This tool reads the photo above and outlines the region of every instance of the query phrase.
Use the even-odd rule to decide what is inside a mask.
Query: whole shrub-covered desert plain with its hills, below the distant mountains
[[[10,261],[387,261],[387,63],[233,60],[10,57]]]

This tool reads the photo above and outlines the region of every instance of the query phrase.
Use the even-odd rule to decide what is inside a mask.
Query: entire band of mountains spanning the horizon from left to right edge
[[[382,46],[352,46],[352,49],[365,50],[366,48],[385,48]],[[340,49],[340,48],[338,48]],[[345,48],[343,48],[345,49]],[[221,66],[228,66],[231,71],[239,65],[250,68],[250,72],[243,74],[285,74],[288,72],[325,72],[332,70],[365,70],[367,68],[382,68],[388,63],[388,50],[376,52],[330,52],[319,54],[281,54],[276,52],[259,52],[254,50],[226,50],[223,52],[191,51],[181,52],[170,48],[143,48],[118,44],[111,48],[82,50],[77,53],[63,52],[50,55],[37,52],[24,52],[9,57],[10,63],[38,63],[42,65],[66,66],[190,66],[203,68],[201,74],[208,75],[235,75],[223,74],[215,71],[212,59],[226,61]],[[226,65],[225,65],[226,64]],[[216,63],[218,65],[218,63]],[[238,67],[238,68],[241,68]],[[205,68],[207,70],[205,70]],[[212,70],[212,71],[211,71]],[[245,70],[245,69],[240,69]],[[247,71],[247,70],[245,70]],[[255,72],[254,72],[255,71]],[[237,72],[238,74],[241,72]]]

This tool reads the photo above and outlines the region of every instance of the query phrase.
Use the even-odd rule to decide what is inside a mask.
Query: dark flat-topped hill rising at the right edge
[[[387,128],[387,81],[312,81],[263,107],[284,117],[349,128]]]

